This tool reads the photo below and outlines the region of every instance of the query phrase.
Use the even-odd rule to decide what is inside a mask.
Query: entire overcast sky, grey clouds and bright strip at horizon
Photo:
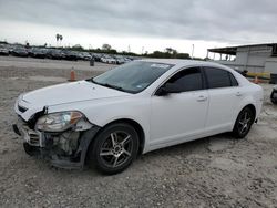
[[[136,53],[277,42],[276,0],[0,0],[0,40]],[[193,46],[194,45],[194,46]]]

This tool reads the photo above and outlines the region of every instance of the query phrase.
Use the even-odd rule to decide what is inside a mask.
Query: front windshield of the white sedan
[[[138,93],[155,82],[172,66],[172,64],[134,61],[89,81],[119,91]]]

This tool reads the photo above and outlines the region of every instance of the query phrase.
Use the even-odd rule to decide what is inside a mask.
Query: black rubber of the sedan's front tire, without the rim
[[[102,162],[100,152],[101,152],[101,147],[103,143],[105,142],[105,138],[115,131],[116,132],[124,131],[131,135],[131,139],[133,139],[132,152],[131,152],[130,158],[124,164],[122,164],[119,167],[109,167]],[[89,163],[102,174],[105,174],[105,175],[119,174],[125,170],[132,164],[132,162],[136,158],[137,153],[138,153],[138,143],[140,143],[138,134],[133,126],[126,123],[111,124],[104,127],[104,129],[101,131],[94,138],[89,149]]]

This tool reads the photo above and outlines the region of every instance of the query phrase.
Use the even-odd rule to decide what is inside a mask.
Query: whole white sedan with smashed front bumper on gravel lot
[[[13,129],[29,155],[54,166],[116,174],[154,149],[225,132],[245,137],[263,98],[259,85],[224,65],[141,60],[21,94]]]

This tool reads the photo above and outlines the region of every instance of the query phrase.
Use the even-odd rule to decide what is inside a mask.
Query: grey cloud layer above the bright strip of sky
[[[0,19],[229,43],[277,40],[275,0],[0,0]]]

